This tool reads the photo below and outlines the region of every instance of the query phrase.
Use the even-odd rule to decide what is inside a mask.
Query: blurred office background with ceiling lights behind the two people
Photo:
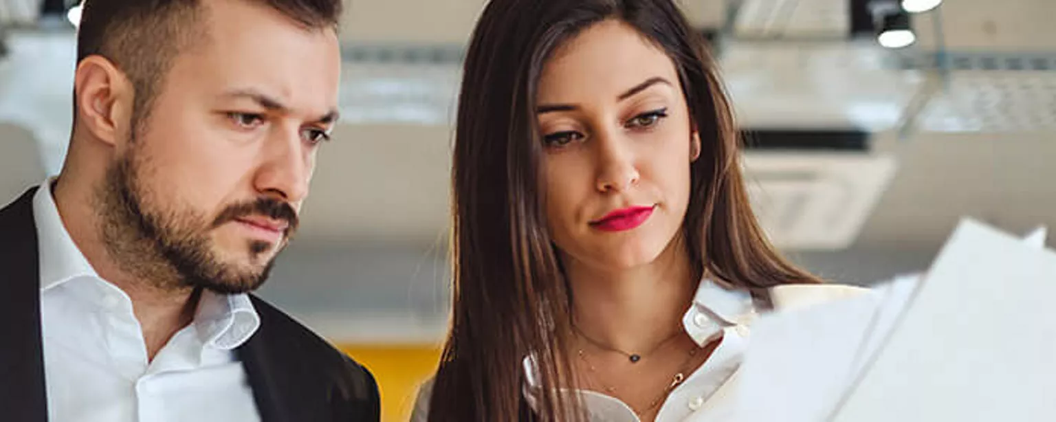
[[[906,12],[937,2],[680,0],[750,139],[766,229],[826,279],[924,270],[964,216],[1056,227],[1056,1]],[[61,162],[72,3],[0,0],[0,203]],[[374,370],[386,421],[406,419],[446,328],[450,123],[483,4],[348,4],[343,121],[261,292]]]

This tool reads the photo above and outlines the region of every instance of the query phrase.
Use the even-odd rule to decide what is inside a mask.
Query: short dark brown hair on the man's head
[[[266,4],[307,30],[337,28],[341,0],[234,0]],[[77,62],[99,55],[135,90],[133,127],[145,121],[173,58],[205,40],[202,0],[86,0]]]

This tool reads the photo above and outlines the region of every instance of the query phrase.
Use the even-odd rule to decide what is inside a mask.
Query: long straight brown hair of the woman
[[[524,415],[522,362],[540,389],[533,418],[579,415],[558,394],[572,385],[569,287],[546,231],[539,194],[542,142],[535,91],[564,41],[606,19],[637,28],[674,62],[700,134],[683,224],[694,269],[754,292],[815,277],[785,261],[749,204],[740,139],[703,40],[671,0],[491,0],[473,32],[463,75],[452,170],[451,327],[430,421],[506,422]]]

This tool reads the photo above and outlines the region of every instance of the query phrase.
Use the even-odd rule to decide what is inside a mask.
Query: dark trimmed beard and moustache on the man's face
[[[137,152],[137,146],[133,146],[132,151],[107,170],[96,195],[102,239],[119,268],[166,290],[203,288],[230,294],[249,292],[264,284],[275,256],[260,267],[225,264],[211,248],[209,233],[235,218],[261,215],[286,222],[289,225],[283,236],[286,241],[298,225],[294,208],[284,202],[260,197],[228,206],[211,223],[189,207],[163,210],[147,200],[149,196],[139,185],[144,169],[134,157]],[[249,241],[246,251],[250,261],[256,261],[269,249],[281,247]]]

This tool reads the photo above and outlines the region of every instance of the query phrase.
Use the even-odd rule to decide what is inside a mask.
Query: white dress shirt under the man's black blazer
[[[33,198],[49,420],[259,421],[233,353],[260,326],[249,298],[203,292],[193,322],[149,361],[132,301],[73,243],[51,186]]]

